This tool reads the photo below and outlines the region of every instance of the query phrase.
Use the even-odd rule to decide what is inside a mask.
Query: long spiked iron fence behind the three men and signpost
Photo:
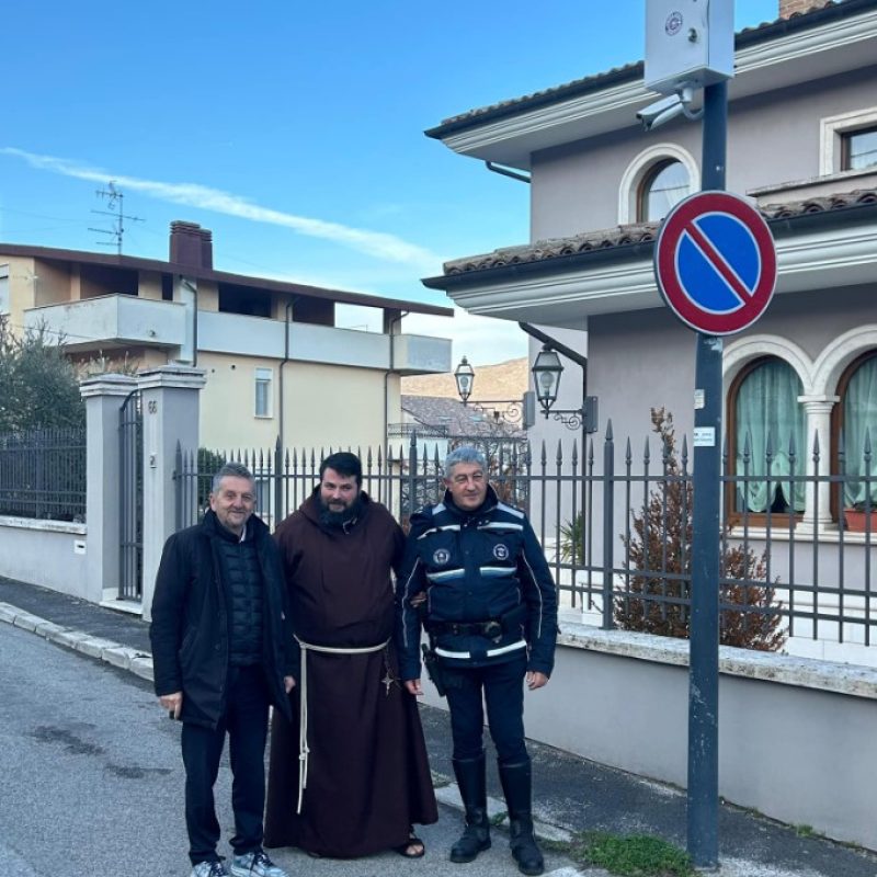
[[[602,446],[601,446],[602,443]],[[612,428],[594,438],[583,458],[576,442],[538,453],[522,443],[488,453],[490,478],[501,499],[524,509],[545,548],[561,605],[589,614],[603,627],[687,636],[691,593],[693,485],[686,444],[677,454],[665,441],[646,442],[641,455],[628,441],[618,453]],[[396,447],[366,449],[363,488],[406,525],[413,511],[442,496],[442,453],[412,435]],[[334,448],[338,449],[338,448]],[[207,505],[213,474],[226,460],[243,463],[255,477],[260,514],[274,525],[311,493],[319,464],[332,448],[195,452],[178,454],[178,524],[198,520]],[[488,448],[490,451],[490,448]],[[793,462],[782,479],[739,472],[726,459],[720,593],[721,636],[728,645],[776,649],[785,637],[869,646],[877,625],[872,585],[872,524],[845,525],[841,465],[824,467],[818,445]],[[770,465],[764,469],[770,472]],[[870,476],[859,471],[872,496]],[[808,506],[754,514],[738,498],[759,479],[768,491],[782,480],[786,496],[804,487]],[[875,512],[877,519],[877,511]]]

